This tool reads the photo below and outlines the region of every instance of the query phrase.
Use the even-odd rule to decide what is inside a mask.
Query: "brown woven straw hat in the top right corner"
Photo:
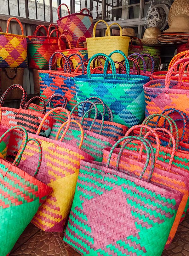
[[[171,26],[175,16],[188,15],[189,16],[189,0],[175,0],[171,5],[168,16],[168,24]]]

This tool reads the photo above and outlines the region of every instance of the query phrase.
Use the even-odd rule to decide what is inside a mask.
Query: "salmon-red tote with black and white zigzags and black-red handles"
[[[6,95],[9,91],[13,90],[14,88],[18,88],[23,91],[23,96],[20,103],[20,109],[14,109],[9,107],[3,107],[4,100]],[[26,103],[27,94],[24,88],[19,84],[11,85],[2,95],[0,98],[0,106],[2,108],[2,121],[1,124],[12,128],[15,125],[20,125],[26,128],[27,132],[36,133],[37,129],[44,117],[44,114],[39,113],[37,111],[33,111],[30,109],[23,109]],[[54,119],[49,117],[46,119],[45,123],[43,124],[43,128],[41,129],[40,135],[48,137],[52,125],[54,123]],[[19,148],[19,143],[21,141],[21,134],[18,132],[13,131],[12,135],[10,136],[10,143],[11,146],[7,150],[7,159],[12,162],[16,156],[16,152]]]

